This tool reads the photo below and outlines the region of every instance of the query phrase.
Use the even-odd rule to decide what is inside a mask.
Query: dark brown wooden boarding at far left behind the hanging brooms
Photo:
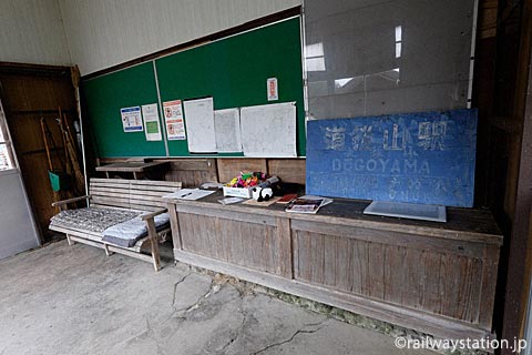
[[[51,189],[40,121],[44,119],[55,143],[51,152],[53,168],[63,170],[61,162],[64,164],[65,153],[57,122],[59,108],[70,124],[78,115],[70,68],[0,62],[0,84],[24,185],[37,223],[47,241],[51,236],[48,231],[50,217],[57,212],[51,203],[60,195]]]

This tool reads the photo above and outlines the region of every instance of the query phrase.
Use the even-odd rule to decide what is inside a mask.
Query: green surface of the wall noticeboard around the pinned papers
[[[276,101],[267,100],[268,78],[277,78]],[[147,142],[144,132],[124,133],[120,109],[157,102],[156,83],[163,131],[161,105],[165,101],[213,97],[215,110],[295,101],[297,155],[306,153],[300,17],[82,82],[101,158],[243,156],[243,153],[193,154],[186,140],[166,141],[164,133],[163,141],[157,142]]]

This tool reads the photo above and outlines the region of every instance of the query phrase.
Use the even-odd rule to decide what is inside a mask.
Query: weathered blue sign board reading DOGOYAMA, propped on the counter
[[[307,194],[471,207],[477,110],[307,123]]]

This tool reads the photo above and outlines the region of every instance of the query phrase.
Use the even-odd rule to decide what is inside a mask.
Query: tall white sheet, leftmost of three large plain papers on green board
[[[183,105],[188,134],[188,151],[191,153],[216,152],[213,98],[188,100]]]

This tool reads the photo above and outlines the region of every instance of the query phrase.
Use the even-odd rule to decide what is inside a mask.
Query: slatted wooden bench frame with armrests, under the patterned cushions
[[[103,232],[94,232],[82,226],[61,226],[52,223],[50,230],[64,233],[69,245],[80,242],[103,248],[108,256],[120,253],[136,257],[153,263],[155,271],[158,271],[161,268],[158,241],[165,240],[170,233],[170,225],[156,231],[154,217],[167,211],[162,196],[180,190],[181,185],[181,182],[170,181],[91,179],[89,195],[52,203],[52,206],[59,206],[61,211],[69,210],[71,203],[86,200],[91,209],[139,212],[146,223],[147,235],[133,246],[125,247],[104,242]],[[109,212],[112,213],[112,211]],[[142,253],[146,248],[151,255]]]

